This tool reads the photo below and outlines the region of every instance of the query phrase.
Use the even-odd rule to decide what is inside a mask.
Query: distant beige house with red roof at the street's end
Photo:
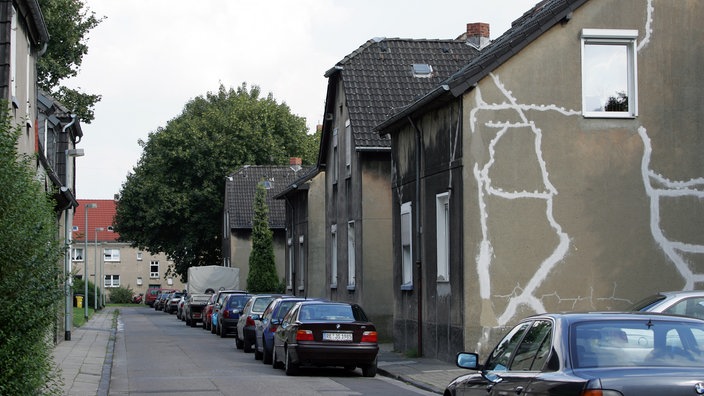
[[[186,288],[169,271],[174,264],[164,253],[152,254],[120,241],[120,235],[112,228],[116,201],[79,199],[78,203],[71,248],[71,272],[75,277],[83,278],[87,273],[94,284],[96,278],[102,279],[97,287],[103,287],[108,302],[110,289],[115,287],[130,288],[135,294],[146,294],[150,287]]]

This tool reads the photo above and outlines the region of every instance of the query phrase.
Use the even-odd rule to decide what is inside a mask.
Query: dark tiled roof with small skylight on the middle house
[[[373,39],[352,52],[325,76],[344,88],[357,149],[389,147],[374,127],[456,72],[479,51],[465,41]],[[414,64],[432,67],[429,77],[414,75]],[[329,93],[334,90],[328,89]],[[335,100],[328,94],[328,104]],[[327,106],[326,106],[327,107]]]

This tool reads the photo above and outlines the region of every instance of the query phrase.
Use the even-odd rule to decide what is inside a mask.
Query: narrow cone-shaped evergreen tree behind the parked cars
[[[252,293],[276,291],[279,279],[276,275],[273,233],[269,228],[269,207],[266,204],[266,188],[257,184],[254,194],[254,218],[252,222],[252,252],[249,255],[247,290]]]

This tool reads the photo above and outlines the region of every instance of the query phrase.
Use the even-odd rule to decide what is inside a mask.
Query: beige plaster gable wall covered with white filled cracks
[[[592,0],[464,96],[465,348],[704,287],[704,3]],[[638,115],[581,113],[583,28],[635,29]]]

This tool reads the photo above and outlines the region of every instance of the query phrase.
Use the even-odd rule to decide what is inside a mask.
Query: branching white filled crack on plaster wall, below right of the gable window
[[[685,285],[683,290],[692,290],[694,289],[695,282],[704,282],[704,274],[695,274],[689,268],[682,254],[704,254],[704,246],[671,241],[665,236],[660,228],[660,201],[663,197],[694,196],[703,199],[704,191],[699,189],[704,188],[704,178],[696,178],[688,181],[672,181],[653,172],[650,169],[650,157],[653,148],[645,127],[641,126],[638,128],[638,135],[643,141],[641,174],[643,175],[645,192],[650,198],[650,232],[653,235],[653,239],[660,245],[660,248],[674,263],[675,268],[680,275],[682,275],[682,278],[684,278]],[[654,187],[653,181],[657,182],[661,187]]]

